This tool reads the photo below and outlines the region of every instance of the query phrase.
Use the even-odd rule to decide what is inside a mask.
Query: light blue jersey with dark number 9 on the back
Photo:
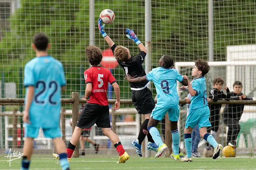
[[[183,77],[176,69],[157,67],[147,75],[147,80],[152,80],[156,86],[156,107],[179,108],[179,96],[177,92],[177,80],[183,81]]]

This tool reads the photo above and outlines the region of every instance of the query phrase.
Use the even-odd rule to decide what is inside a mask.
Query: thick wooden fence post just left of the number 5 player
[[[72,92],[72,99],[74,99],[74,103],[72,104],[72,134],[73,134],[76,127],[76,123],[78,121],[78,117],[79,117],[79,93]],[[79,157],[79,143],[77,144],[72,157],[74,158]]]

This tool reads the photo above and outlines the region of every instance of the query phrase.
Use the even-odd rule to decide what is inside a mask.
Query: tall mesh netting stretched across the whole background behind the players
[[[103,60],[112,57],[108,44],[99,33],[97,21],[100,12],[104,9],[114,11],[115,21],[106,25],[105,31],[116,45],[129,48],[131,55],[136,56],[140,52],[139,48],[126,37],[125,29],[133,29],[139,40],[145,44],[146,2],[145,0],[0,0],[0,97],[20,99],[25,97],[24,66],[35,57],[35,52],[31,48],[33,36],[42,32],[51,42],[48,54],[60,60],[64,66],[67,86],[62,98],[71,98],[72,92],[79,92],[79,97],[82,98],[85,92],[84,70],[90,67],[85,48],[93,44],[103,51]],[[151,26],[147,28],[151,28],[152,31],[148,42],[151,47],[148,50],[151,59],[147,66],[152,69],[158,67],[160,57],[167,54],[172,56],[176,62],[175,67],[181,74],[190,76],[196,59],[208,60],[208,0],[151,0],[150,2],[151,14],[147,15],[151,15]],[[255,99],[255,3],[249,0],[239,2],[224,0],[213,1],[213,6],[212,43],[215,62],[209,62],[212,69],[206,77],[208,92],[212,88],[212,78],[221,76],[231,91],[233,82],[240,80],[243,83],[242,92]],[[148,60],[148,56],[145,60]],[[113,58],[109,60],[111,61]],[[145,62],[143,67],[146,67]],[[124,70],[117,66],[111,71],[120,87],[120,98],[131,100],[129,83],[124,81]],[[155,98],[155,86],[153,83],[150,86]],[[107,95],[108,99],[115,99],[111,85]],[[183,99],[186,95],[181,93],[180,98]],[[82,104],[79,107],[81,106]],[[121,105],[115,113],[112,112],[113,106],[109,107],[112,128],[119,136],[125,150],[135,156],[136,152],[131,142],[138,137],[144,116],[138,115],[132,104]],[[0,152],[8,151],[9,148],[22,150],[24,124],[21,118],[24,105],[1,105],[0,109]],[[71,109],[71,104],[62,104],[63,117],[60,124],[62,138],[66,144],[72,135]],[[246,122],[247,118],[254,120],[255,111],[254,106],[245,106],[241,122]],[[13,113],[17,113],[16,116],[13,116]],[[186,113],[187,109],[184,106],[180,110],[179,122],[181,152],[185,152],[183,129]],[[227,129],[223,122],[220,125],[218,137],[221,139],[218,141],[225,144]],[[157,128],[164,141],[165,133],[170,132],[170,129],[165,129],[164,121],[161,121]],[[250,134],[255,139],[255,127],[250,129]],[[81,140],[84,144],[85,156],[117,157],[113,144],[100,128],[94,125],[89,131],[89,139],[87,132],[83,133],[85,137],[82,137],[83,141]],[[244,139],[243,134],[240,135],[238,149],[252,148],[252,141],[255,146],[255,140],[249,137],[245,142]],[[95,143],[100,144],[97,154]],[[142,148],[143,155],[148,156],[149,154],[145,154],[145,142]],[[81,154],[83,148],[80,144],[78,149]],[[203,153],[204,146],[198,149]],[[45,138],[42,130],[34,142],[34,151],[40,156],[51,156],[53,152],[56,153],[52,140]],[[242,153],[246,152],[237,152],[238,155]],[[151,154],[155,153],[151,152]]]

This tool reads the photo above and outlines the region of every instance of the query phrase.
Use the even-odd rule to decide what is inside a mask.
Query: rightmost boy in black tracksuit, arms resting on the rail
[[[252,100],[252,97],[242,93],[242,82],[235,81],[233,84],[234,92],[230,92],[230,100]],[[236,147],[236,137],[240,131],[239,120],[243,114],[244,105],[227,104],[223,111],[223,122],[228,126],[226,145]]]

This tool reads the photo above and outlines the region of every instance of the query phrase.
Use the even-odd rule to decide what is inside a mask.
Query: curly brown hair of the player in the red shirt
[[[90,45],[85,50],[87,59],[91,65],[99,65],[102,60],[102,51],[99,47]]]

